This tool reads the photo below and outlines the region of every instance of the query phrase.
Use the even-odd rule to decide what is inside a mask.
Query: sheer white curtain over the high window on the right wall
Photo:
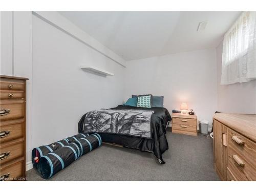
[[[256,12],[243,12],[223,39],[221,84],[256,79]]]

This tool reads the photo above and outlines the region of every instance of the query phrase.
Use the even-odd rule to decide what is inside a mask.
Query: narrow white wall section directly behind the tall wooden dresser
[[[27,77],[27,161],[32,145],[32,12],[1,12],[1,75]]]

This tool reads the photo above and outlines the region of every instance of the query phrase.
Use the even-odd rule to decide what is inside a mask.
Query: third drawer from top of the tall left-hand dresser
[[[25,113],[25,104],[23,102],[18,103],[1,103],[1,116],[0,120],[10,120],[23,118]]]

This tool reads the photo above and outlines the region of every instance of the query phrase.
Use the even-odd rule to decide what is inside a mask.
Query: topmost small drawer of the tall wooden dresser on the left
[[[25,81],[19,79],[7,79],[1,78],[0,82],[1,90],[25,90]]]

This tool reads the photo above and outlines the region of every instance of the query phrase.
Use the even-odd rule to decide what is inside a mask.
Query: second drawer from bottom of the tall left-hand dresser
[[[1,144],[0,147],[0,164],[4,164],[8,161],[11,161],[18,157],[23,157],[24,154],[24,140],[19,139],[15,143],[15,140],[13,142],[6,142],[4,144]]]

